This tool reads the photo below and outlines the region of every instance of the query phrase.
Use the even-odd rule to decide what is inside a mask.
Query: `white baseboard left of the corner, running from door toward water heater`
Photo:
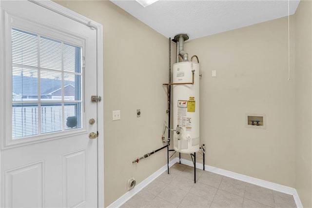
[[[176,162],[178,162],[178,158],[174,158],[172,161],[170,161],[169,167],[173,166]],[[128,201],[130,198],[132,198],[134,195],[136,195],[144,187],[149,185],[152,181],[154,181],[158,176],[160,176],[166,170],[167,170],[167,164],[162,166],[160,169],[158,169],[155,173],[153,173],[149,177],[147,177],[144,181],[139,183],[132,190],[123,194],[119,199],[117,199],[115,202],[110,204],[107,208],[119,208],[121,205],[123,205],[126,201]]]

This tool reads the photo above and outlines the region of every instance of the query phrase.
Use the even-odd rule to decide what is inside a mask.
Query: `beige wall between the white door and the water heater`
[[[166,150],[132,161],[163,146],[169,41],[110,1],[56,2],[103,25],[106,207],[127,192],[129,178],[140,183],[167,163]],[[120,121],[112,121],[113,110],[121,110]]]

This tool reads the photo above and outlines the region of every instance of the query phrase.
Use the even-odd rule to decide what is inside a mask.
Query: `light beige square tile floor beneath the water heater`
[[[288,194],[176,163],[121,208],[296,208]]]

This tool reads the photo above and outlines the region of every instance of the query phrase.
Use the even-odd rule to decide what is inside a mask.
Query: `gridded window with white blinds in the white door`
[[[12,28],[12,137],[82,128],[82,48]]]

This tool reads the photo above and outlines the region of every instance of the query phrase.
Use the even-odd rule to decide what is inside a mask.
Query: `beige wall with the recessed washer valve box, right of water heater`
[[[287,18],[184,44],[200,61],[208,165],[295,187],[293,17],[290,24],[290,81]],[[266,114],[266,129],[245,127],[246,113]]]

